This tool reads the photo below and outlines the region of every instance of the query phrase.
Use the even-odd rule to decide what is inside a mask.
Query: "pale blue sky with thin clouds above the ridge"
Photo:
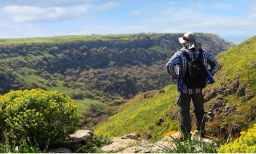
[[[0,38],[214,33],[239,44],[256,35],[256,1],[0,1]]]

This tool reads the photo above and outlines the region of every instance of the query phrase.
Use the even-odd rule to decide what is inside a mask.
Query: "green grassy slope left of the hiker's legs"
[[[147,131],[152,134],[152,141],[158,141],[163,138],[163,134],[171,130],[177,130],[177,121],[172,121],[169,113],[175,107],[177,97],[176,86],[172,85],[165,88],[165,93],[158,94],[158,91],[150,92],[156,94],[153,98],[144,99],[144,94],[138,94],[133,100],[125,104],[117,115],[110,117],[104,123],[95,126],[95,132],[106,132],[112,136],[123,136],[131,132],[140,132],[143,134]],[[175,111],[173,111],[175,113]],[[156,122],[163,117],[165,122],[162,126],[156,126]],[[148,130],[152,127],[152,130]],[[145,138],[145,136],[142,136]]]

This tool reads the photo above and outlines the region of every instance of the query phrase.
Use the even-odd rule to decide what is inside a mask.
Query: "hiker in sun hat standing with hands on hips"
[[[183,134],[183,136],[181,136],[181,140],[186,140],[188,136],[191,136],[191,100],[193,102],[193,110],[196,116],[196,130],[194,130],[194,133],[200,134],[202,138],[204,138],[206,131],[202,91],[205,85],[210,85],[215,82],[213,74],[219,64],[215,58],[209,54],[209,52],[201,49],[201,43],[196,42],[194,33],[185,33],[183,37],[179,38],[179,42],[183,45],[183,48],[175,53],[167,63],[166,67],[169,77],[171,77],[173,81],[177,82],[179,122],[181,124],[181,132]],[[194,61],[191,62],[192,60]],[[196,64],[193,64],[195,62]],[[206,64],[209,64],[209,68],[206,67]],[[196,69],[189,69],[189,66],[197,67]],[[195,73],[195,71],[200,71],[200,74]],[[194,76],[192,76],[191,73],[194,73]]]

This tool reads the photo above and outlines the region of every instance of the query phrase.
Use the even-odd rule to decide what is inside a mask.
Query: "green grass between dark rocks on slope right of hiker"
[[[232,83],[237,81],[239,87],[244,87],[245,96],[248,94],[256,95],[256,37],[251,37],[244,43],[232,47],[230,50],[219,54],[216,58],[221,66],[215,74],[216,82],[205,88],[204,92],[207,94],[207,90],[210,88],[218,89],[220,88],[220,83],[226,85],[223,92],[232,87]],[[256,98],[251,98],[251,100],[246,100],[245,96],[239,97],[238,94],[232,94],[228,96],[223,96],[224,98],[223,107],[227,104],[230,106],[236,106],[236,111],[233,111],[228,116],[224,116],[224,113],[220,113],[215,116],[219,119],[219,124],[224,125],[225,123],[231,126],[234,123],[238,123],[242,126],[243,130],[251,128],[256,122],[255,118],[251,115],[255,115]],[[213,101],[216,98],[210,100],[205,105],[207,109],[211,109]],[[237,114],[241,112],[242,115]]]

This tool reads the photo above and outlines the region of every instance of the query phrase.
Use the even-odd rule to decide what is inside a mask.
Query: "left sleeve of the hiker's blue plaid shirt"
[[[179,65],[179,55],[177,52],[175,55],[169,60],[169,62],[166,65],[167,72],[169,74],[169,77],[172,79],[178,79],[178,75],[175,72],[175,66]]]

